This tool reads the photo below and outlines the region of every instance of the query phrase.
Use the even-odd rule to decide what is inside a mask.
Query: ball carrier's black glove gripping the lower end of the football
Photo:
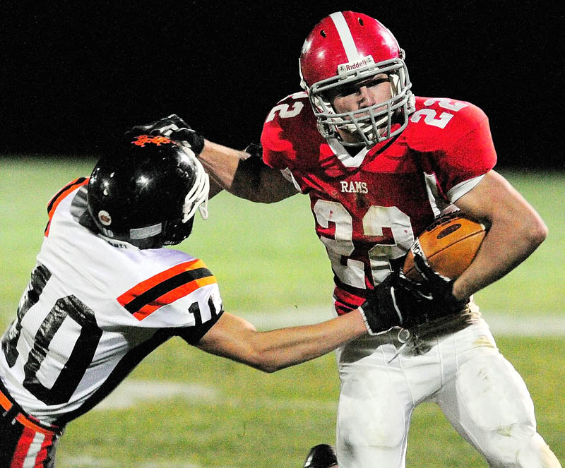
[[[436,272],[421,253],[414,253],[414,265],[424,278],[424,281],[415,287],[415,292],[420,295],[422,301],[420,313],[412,316],[417,325],[463,311],[469,298],[457,299],[453,296],[455,280]]]

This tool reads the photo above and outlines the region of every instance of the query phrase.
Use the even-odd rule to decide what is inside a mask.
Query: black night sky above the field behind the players
[[[350,9],[391,29],[416,95],[487,113],[499,167],[562,170],[558,3],[2,1],[0,154],[97,155],[126,127],[173,112],[244,148],[270,108],[299,90],[311,28]]]

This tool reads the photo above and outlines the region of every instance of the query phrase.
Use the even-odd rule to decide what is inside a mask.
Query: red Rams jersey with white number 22
[[[414,239],[496,163],[487,116],[469,102],[416,97],[403,133],[357,154],[323,138],[305,92],[268,114],[263,160],[310,197],[345,313],[400,268]]]

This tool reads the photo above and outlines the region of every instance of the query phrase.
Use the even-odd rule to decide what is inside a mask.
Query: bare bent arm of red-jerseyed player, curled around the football
[[[547,227],[540,215],[494,171],[489,171],[455,204],[477,220],[490,224],[477,256],[453,283],[453,295],[458,299],[499,280],[528,258],[547,237]]]

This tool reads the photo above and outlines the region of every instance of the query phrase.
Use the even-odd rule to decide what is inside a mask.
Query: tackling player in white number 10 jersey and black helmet
[[[66,423],[170,337],[272,372],[383,330],[371,301],[270,332],[224,312],[203,261],[162,247],[191,234],[197,210],[206,219],[208,191],[194,152],[138,134],[49,201],[37,264],[0,340],[0,468],[52,467]]]

